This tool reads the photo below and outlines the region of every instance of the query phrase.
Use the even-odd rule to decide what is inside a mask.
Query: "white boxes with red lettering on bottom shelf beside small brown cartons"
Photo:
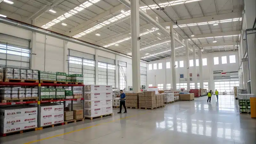
[[[41,106],[40,127],[64,123],[64,105],[45,104]]]

